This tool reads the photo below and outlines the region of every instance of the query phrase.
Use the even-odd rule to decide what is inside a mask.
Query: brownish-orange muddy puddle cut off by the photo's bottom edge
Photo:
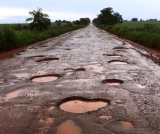
[[[72,120],[68,120],[58,126],[56,134],[81,134],[81,131],[81,128]]]

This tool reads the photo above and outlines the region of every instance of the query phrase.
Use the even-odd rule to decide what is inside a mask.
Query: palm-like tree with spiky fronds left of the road
[[[33,18],[28,18],[26,21],[31,22],[29,24],[31,29],[36,29],[38,31],[47,30],[51,25],[51,20],[48,18],[47,14],[42,13],[42,8],[37,8],[37,11],[33,10],[29,12]]]

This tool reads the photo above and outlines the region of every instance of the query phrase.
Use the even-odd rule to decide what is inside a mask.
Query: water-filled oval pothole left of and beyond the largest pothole
[[[35,76],[31,78],[33,82],[51,82],[55,81],[59,78],[58,75],[43,75],[43,76]]]

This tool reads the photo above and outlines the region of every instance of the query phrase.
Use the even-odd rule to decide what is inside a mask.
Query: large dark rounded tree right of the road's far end
[[[123,18],[119,13],[114,13],[111,7],[101,10],[101,14],[93,20],[94,23],[115,25],[117,23],[123,23]]]

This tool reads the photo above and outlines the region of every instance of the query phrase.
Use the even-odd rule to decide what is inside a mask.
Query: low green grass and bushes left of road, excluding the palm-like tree
[[[12,26],[0,27],[0,52],[13,50],[29,44],[56,37],[66,32],[85,27],[84,25],[63,25],[50,27],[49,30],[38,32],[29,29],[16,30]]]

